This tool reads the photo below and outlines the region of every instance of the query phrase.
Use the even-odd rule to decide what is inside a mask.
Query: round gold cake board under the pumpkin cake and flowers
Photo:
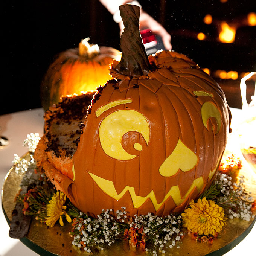
[[[28,157],[28,154],[24,157]],[[246,177],[245,185],[248,191],[252,192],[252,196],[256,198],[256,182],[253,178],[253,173],[250,167],[245,165],[241,169],[239,174]],[[17,174],[14,170],[14,166],[9,170],[5,177],[5,181],[2,188],[2,208],[5,214],[8,224],[10,224],[12,218],[12,210],[15,207],[14,198],[20,190],[20,183],[23,178],[22,174]],[[248,235],[252,229],[256,218],[251,218],[250,221],[244,221],[238,218],[229,219],[227,226],[224,227],[221,234],[217,239],[213,241],[213,244],[200,243],[191,239],[189,235],[185,235],[180,248],[169,248],[166,250],[165,256],[220,256],[227,253],[239,242],[241,242],[245,236]],[[72,245],[73,238],[70,237],[69,232],[72,230],[71,224],[66,224],[61,227],[58,223],[52,228],[47,228],[45,224],[32,220],[30,229],[26,237],[21,238],[27,247],[42,256],[74,256],[81,255],[87,256],[90,253],[80,250],[78,247]],[[118,242],[113,244],[103,251],[99,251],[96,255],[101,256],[135,256],[146,255],[145,252],[140,249],[132,248],[127,244],[127,241]]]

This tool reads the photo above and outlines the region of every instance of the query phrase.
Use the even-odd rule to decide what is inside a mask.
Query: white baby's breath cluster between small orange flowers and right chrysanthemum
[[[179,242],[183,237],[181,232],[181,216],[168,215],[166,217],[154,216],[151,213],[147,215],[134,215],[134,221],[130,227],[140,229],[143,226],[143,232],[152,239],[154,247],[153,255],[165,253],[165,249],[176,246],[180,247]],[[148,249],[146,248],[146,251]]]

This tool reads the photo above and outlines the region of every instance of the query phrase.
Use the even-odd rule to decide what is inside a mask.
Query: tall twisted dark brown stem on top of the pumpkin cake
[[[118,73],[132,77],[148,75],[151,66],[140,35],[140,8],[136,5],[121,5],[119,10],[125,29],[120,40],[122,59],[115,69]]]

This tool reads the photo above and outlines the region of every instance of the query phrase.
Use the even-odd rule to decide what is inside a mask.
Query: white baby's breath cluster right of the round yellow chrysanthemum
[[[232,183],[232,178],[227,174],[218,173],[215,183],[221,187],[222,196],[218,197],[216,203],[224,207],[228,218],[240,218],[250,221],[251,204],[253,197],[245,191],[244,177],[239,176],[238,184]]]

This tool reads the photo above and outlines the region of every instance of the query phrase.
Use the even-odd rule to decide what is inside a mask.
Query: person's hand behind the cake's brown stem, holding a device
[[[124,26],[123,22],[119,23],[120,34],[122,34]],[[159,35],[162,38],[163,45],[166,50],[171,50],[171,35],[165,30],[165,28],[158,23],[154,18],[152,18],[149,14],[141,10],[140,12],[140,30],[142,29],[150,29],[153,34]]]

